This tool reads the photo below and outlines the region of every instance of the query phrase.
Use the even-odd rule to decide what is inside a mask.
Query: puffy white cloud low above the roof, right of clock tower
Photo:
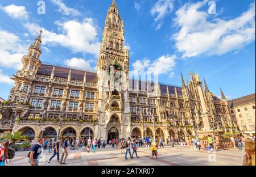
[[[159,57],[158,59],[151,62],[147,58],[144,60],[135,61],[133,66],[134,74],[138,74],[140,71],[144,73],[155,73],[155,74],[170,74],[174,76],[174,67],[176,65],[176,56],[166,56]]]

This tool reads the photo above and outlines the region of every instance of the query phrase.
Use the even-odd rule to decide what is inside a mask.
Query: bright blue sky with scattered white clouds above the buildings
[[[0,96],[21,66],[40,29],[42,61],[94,70],[106,12],[112,0],[0,1]],[[159,73],[159,81],[181,85],[180,71],[207,80],[228,99],[255,92],[255,1],[116,0],[125,22],[130,70]],[[216,14],[214,9],[216,7]],[[211,11],[213,10],[213,11]]]

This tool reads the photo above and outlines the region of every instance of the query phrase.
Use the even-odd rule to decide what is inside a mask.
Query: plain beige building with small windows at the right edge
[[[242,133],[255,136],[255,94],[229,100],[230,115]]]

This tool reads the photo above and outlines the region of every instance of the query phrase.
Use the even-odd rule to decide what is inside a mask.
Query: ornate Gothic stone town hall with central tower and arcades
[[[0,109],[2,132],[21,130],[31,139],[151,136],[166,141],[202,130],[237,130],[223,92],[218,99],[197,74],[191,73],[187,85],[181,74],[182,87],[129,79],[129,50],[115,1],[106,17],[97,73],[42,64],[41,33],[13,76],[9,102]]]

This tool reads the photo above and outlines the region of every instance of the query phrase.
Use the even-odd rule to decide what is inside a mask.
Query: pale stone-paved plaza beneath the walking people
[[[16,152],[15,158],[9,163],[10,166],[28,166],[28,152]],[[206,149],[201,151],[193,150],[187,146],[176,146],[172,149],[166,145],[164,149],[159,148],[158,159],[151,159],[151,151],[145,147],[138,148],[140,158],[125,159],[121,150],[113,149],[109,145],[105,149],[96,149],[96,153],[87,153],[85,147],[79,150],[69,150],[69,155],[66,160],[68,166],[241,166],[242,156],[244,152],[238,149],[221,149],[214,152],[212,155]],[[65,166],[57,163],[56,157],[51,163],[46,163],[51,154],[44,153],[41,158],[40,166]]]

